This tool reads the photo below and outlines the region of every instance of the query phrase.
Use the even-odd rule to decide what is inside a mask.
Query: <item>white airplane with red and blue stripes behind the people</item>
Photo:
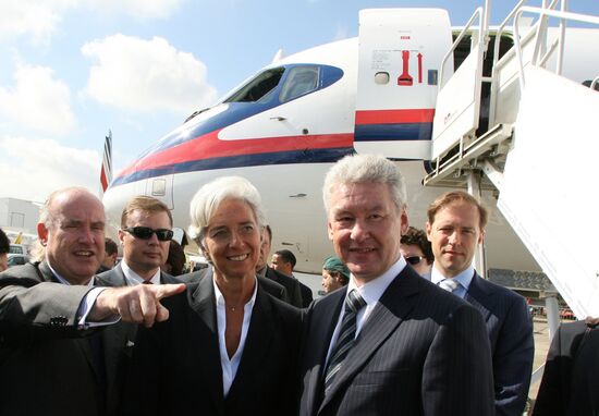
[[[482,14],[479,19],[484,21]],[[273,249],[291,249],[297,271],[320,274],[323,259],[333,254],[322,181],[332,163],[353,152],[382,154],[396,161],[406,183],[409,222],[424,229],[427,206],[447,188],[424,186],[423,180],[451,156],[433,148],[436,125],[454,115],[436,112],[439,84],[457,74],[470,59],[473,45],[482,42],[482,86],[477,88],[485,102],[489,88],[484,78],[490,76],[493,59],[509,54],[514,45],[513,27],[503,29],[497,45],[501,27],[490,28],[489,39],[480,29],[467,28],[463,36],[462,29],[452,27],[448,12],[440,9],[363,10],[358,37],[289,57],[277,53],[271,64],[217,105],[194,112],[113,178],[103,195],[112,232],[135,195],[164,201],[174,225],[186,230],[190,201],[203,184],[242,175],[261,194]],[[567,27],[569,59],[562,73],[590,84],[599,68],[598,40],[597,29]],[[489,111],[505,108],[482,105],[474,131],[488,129]],[[488,181],[482,182],[481,197],[490,209],[486,267],[540,272],[497,209],[498,192]],[[196,250],[190,243],[187,249]]]

